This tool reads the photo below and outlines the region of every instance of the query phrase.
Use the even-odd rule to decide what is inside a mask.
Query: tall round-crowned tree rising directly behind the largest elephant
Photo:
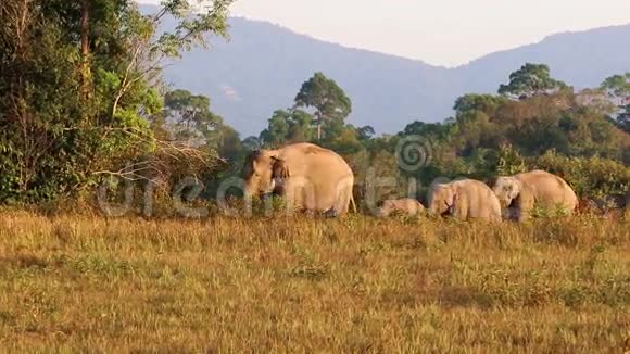
[[[343,121],[352,112],[352,102],[332,79],[322,73],[305,81],[295,97],[297,108],[315,109],[317,119],[317,140],[322,140],[322,126],[325,122]]]

